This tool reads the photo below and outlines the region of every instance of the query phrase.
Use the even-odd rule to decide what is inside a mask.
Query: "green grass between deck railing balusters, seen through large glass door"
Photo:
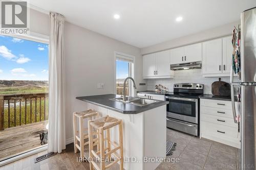
[[[6,101],[5,101],[6,102]],[[31,116],[30,116],[30,100],[27,100],[27,124],[35,123],[35,122],[40,122],[40,110],[41,110],[41,120],[45,120],[45,112],[46,110],[46,120],[48,120],[48,111],[49,111],[49,100],[46,99],[46,109],[45,107],[45,101],[44,99],[41,99],[41,108],[40,106],[40,101],[37,99],[36,102],[36,110],[35,110],[35,99],[32,99],[32,109],[31,109]],[[13,101],[10,102],[10,104]],[[19,101],[18,101],[19,103]],[[36,114],[35,114],[36,113]],[[36,116],[36,120],[35,120]],[[16,126],[19,126],[19,105],[16,103]],[[32,122],[30,122],[30,118],[32,119]],[[21,125],[25,125],[25,100],[22,101],[22,108],[21,108]],[[14,127],[14,107],[10,107],[10,127]],[[8,107],[5,107],[5,113],[4,113],[4,128],[8,128]]]

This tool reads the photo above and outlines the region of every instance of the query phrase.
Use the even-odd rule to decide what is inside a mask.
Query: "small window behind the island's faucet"
[[[116,94],[123,95],[124,79],[127,77],[134,78],[134,57],[126,54],[115,54],[115,65],[116,65],[116,80],[115,80],[115,91]],[[132,81],[126,81],[125,94],[133,95]]]

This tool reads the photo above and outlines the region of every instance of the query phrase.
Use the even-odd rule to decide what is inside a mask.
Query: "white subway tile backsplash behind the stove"
[[[211,84],[218,81],[219,77],[205,78],[201,71],[201,69],[177,70],[174,79],[147,79],[147,90],[155,90],[155,85],[158,84],[168,88],[168,91],[173,91],[175,83],[200,83],[204,84],[204,93],[211,94]],[[221,81],[229,83],[229,77],[221,77]]]

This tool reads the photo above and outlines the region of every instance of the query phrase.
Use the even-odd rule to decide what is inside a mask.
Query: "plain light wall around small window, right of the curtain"
[[[72,113],[86,108],[76,96],[114,93],[114,51],[135,56],[135,82],[137,90],[142,79],[140,49],[100,35],[90,30],[65,23],[65,75],[66,75],[66,138],[73,136]],[[97,83],[104,83],[97,89]]]

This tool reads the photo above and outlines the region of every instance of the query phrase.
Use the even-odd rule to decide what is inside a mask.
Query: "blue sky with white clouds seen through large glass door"
[[[0,35],[0,80],[48,80],[48,44]]]

